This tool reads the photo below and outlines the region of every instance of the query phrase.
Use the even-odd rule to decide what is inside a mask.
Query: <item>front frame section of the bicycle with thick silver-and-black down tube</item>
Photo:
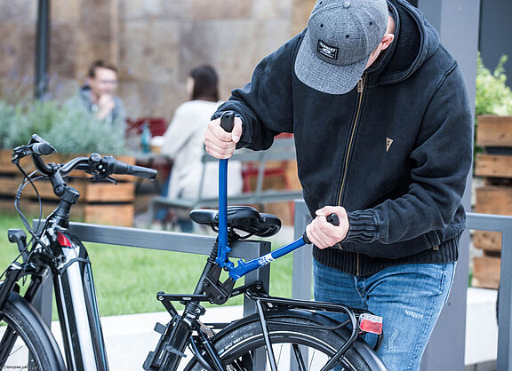
[[[31,274],[24,298],[32,303],[51,273],[68,369],[108,370],[91,262],[66,224],[59,217],[47,221],[42,238],[47,248],[36,247],[34,270],[20,272],[12,264],[0,291],[7,294],[23,275]]]

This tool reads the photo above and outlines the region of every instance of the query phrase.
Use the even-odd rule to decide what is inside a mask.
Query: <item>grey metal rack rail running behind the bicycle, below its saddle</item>
[[[33,222],[34,227],[39,227],[39,221]],[[42,222],[44,224],[44,221]],[[210,255],[215,237],[188,233],[172,233],[151,231],[140,228],[122,226],[92,225],[86,223],[70,223],[69,229],[81,241],[96,242],[105,245],[126,246],[142,249],[156,249],[165,251],[183,252],[189,254]],[[270,252],[268,241],[236,241],[230,257],[250,260]],[[199,276],[201,272],[197,272]],[[260,280],[268,289],[270,267],[266,265],[245,276],[245,281]],[[162,288],[163,290],[165,288]],[[155,293],[156,300],[156,293]],[[40,291],[40,296],[35,301],[44,320],[50,324],[52,321],[52,280],[47,280]],[[256,312],[256,305],[244,297],[244,316]]]

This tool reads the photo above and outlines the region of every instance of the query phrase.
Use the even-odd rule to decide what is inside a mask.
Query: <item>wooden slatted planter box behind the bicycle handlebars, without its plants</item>
[[[45,162],[62,163],[76,156],[60,156],[52,154],[45,156]],[[129,156],[116,156],[117,159],[127,163],[134,163]],[[32,171],[33,164],[29,158],[22,159],[21,167]],[[135,184],[130,176],[116,176],[117,185],[103,182],[92,182],[84,179],[83,171],[73,171],[71,176],[82,178],[68,178],[67,183],[78,190],[80,200],[72,209],[71,217],[87,223],[100,223],[108,225],[132,226],[133,201],[135,199]],[[0,210],[5,213],[15,213],[13,199],[23,180],[20,171],[11,163],[10,151],[0,151]],[[47,180],[35,182],[39,196],[43,200],[43,215],[47,215],[57,206],[58,198],[53,194],[52,185]],[[36,192],[32,186],[27,186],[22,193],[21,209],[30,216],[39,213],[39,203]]]

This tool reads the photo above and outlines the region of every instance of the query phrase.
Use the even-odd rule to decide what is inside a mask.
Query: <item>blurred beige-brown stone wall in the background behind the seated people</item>
[[[221,99],[269,52],[306,26],[314,0],[52,0],[51,92],[74,94],[93,59],[120,69],[132,117],[172,118],[188,70],[209,63]],[[0,0],[0,82],[33,78],[36,4]]]

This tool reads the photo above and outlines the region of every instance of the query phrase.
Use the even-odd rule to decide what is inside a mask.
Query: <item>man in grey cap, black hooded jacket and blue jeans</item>
[[[452,286],[472,158],[467,91],[436,30],[404,0],[318,0],[212,118],[218,158],[294,133],[316,300],[380,315],[380,358],[419,369]]]

